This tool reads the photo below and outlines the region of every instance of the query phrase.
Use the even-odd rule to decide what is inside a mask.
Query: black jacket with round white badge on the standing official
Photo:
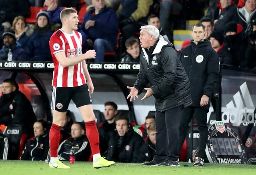
[[[182,49],[180,60],[189,77],[192,106],[200,107],[201,97],[205,94],[209,96],[209,103],[202,108],[209,110],[214,83],[218,79],[219,59],[216,51],[208,40],[197,45],[191,41]]]

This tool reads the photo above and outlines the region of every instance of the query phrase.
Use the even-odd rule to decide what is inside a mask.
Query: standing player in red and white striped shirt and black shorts
[[[68,169],[58,160],[57,149],[60,143],[60,130],[64,124],[66,111],[72,99],[79,109],[86,124],[86,136],[90,142],[93,157],[93,167],[107,167],[114,161],[107,161],[100,155],[99,134],[95,123],[90,94],[94,86],[86,67],[86,59],[95,59],[95,50],[82,54],[82,36],[77,30],[78,15],[72,8],[66,8],[60,13],[62,28],[53,33],[50,38],[50,50],[54,63],[52,79],[53,114],[50,129],[51,168]]]

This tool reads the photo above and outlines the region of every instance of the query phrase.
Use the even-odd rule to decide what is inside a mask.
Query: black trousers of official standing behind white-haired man
[[[200,134],[198,157],[203,158],[205,147],[207,144],[207,137],[208,137],[207,110],[203,108],[198,108],[193,106],[184,108],[182,118],[180,121],[180,138],[179,138],[178,151],[180,151],[182,144],[186,138],[188,124],[190,123],[193,117],[193,114],[195,114],[196,123],[198,125],[198,130]],[[192,139],[192,136],[191,136],[191,139]]]

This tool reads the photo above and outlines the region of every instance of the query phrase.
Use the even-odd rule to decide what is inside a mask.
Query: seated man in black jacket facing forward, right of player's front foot
[[[107,160],[137,162],[142,138],[130,128],[125,116],[116,116],[116,130],[110,136]]]

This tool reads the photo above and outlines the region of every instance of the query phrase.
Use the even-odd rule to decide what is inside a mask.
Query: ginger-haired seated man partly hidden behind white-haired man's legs
[[[152,161],[156,151],[156,125],[152,123],[147,128],[148,140],[140,148],[138,162]]]

